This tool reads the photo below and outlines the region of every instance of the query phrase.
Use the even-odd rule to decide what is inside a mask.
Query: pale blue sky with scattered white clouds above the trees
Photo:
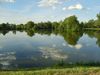
[[[99,12],[100,0],[0,0],[0,23],[61,21],[71,15],[87,21]]]

